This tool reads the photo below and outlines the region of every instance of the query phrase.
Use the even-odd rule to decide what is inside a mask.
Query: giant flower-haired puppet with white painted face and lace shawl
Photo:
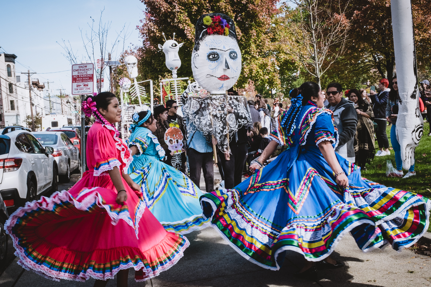
[[[191,59],[193,77],[210,96],[202,99],[189,94],[183,107],[184,118],[193,121],[208,139],[215,136],[219,149],[225,152],[229,136],[252,124],[247,99],[226,95],[241,73],[235,24],[225,14],[205,14],[197,21],[195,35]]]

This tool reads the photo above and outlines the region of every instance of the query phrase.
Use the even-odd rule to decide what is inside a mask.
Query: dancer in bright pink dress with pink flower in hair
[[[94,286],[115,275],[117,286],[127,286],[133,267],[135,280],[145,281],[175,265],[189,242],[165,231],[126,173],[132,157],[112,125],[121,116],[115,95],[90,96],[83,109],[96,118],[87,139],[90,170],[69,191],[28,202],[10,216],[6,230],[18,264],[56,281],[93,277]]]

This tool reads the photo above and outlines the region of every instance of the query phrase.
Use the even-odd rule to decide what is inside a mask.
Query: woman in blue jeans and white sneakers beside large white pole
[[[389,98],[387,99],[386,105],[386,120],[392,123],[390,128],[390,142],[395,152],[395,163],[397,164],[398,173],[391,173],[390,176],[403,177],[403,161],[401,160],[401,146],[397,139],[395,129],[397,128],[397,117],[398,117],[398,82],[397,75],[392,79],[392,88],[389,92]],[[409,172],[403,177],[406,179],[410,176],[415,176],[415,164],[410,166]]]

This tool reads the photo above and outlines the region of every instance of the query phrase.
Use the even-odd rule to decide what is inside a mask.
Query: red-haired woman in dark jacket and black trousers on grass
[[[387,88],[388,86],[389,81],[387,79],[381,79],[378,84],[380,91],[378,93],[373,90],[370,91],[371,102],[374,104],[374,121],[377,123],[377,130],[375,133],[379,147],[379,151],[376,154],[378,157],[383,157],[390,154],[389,141],[387,140],[386,135],[386,104],[390,91],[390,89]]]

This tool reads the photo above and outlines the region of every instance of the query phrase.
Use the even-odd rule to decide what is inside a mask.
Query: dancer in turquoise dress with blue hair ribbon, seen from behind
[[[163,163],[165,151],[157,137],[156,120],[151,111],[133,115],[128,146],[133,161],[128,173],[141,186],[148,209],[166,231],[187,234],[205,228],[199,203],[202,191],[184,173]]]

